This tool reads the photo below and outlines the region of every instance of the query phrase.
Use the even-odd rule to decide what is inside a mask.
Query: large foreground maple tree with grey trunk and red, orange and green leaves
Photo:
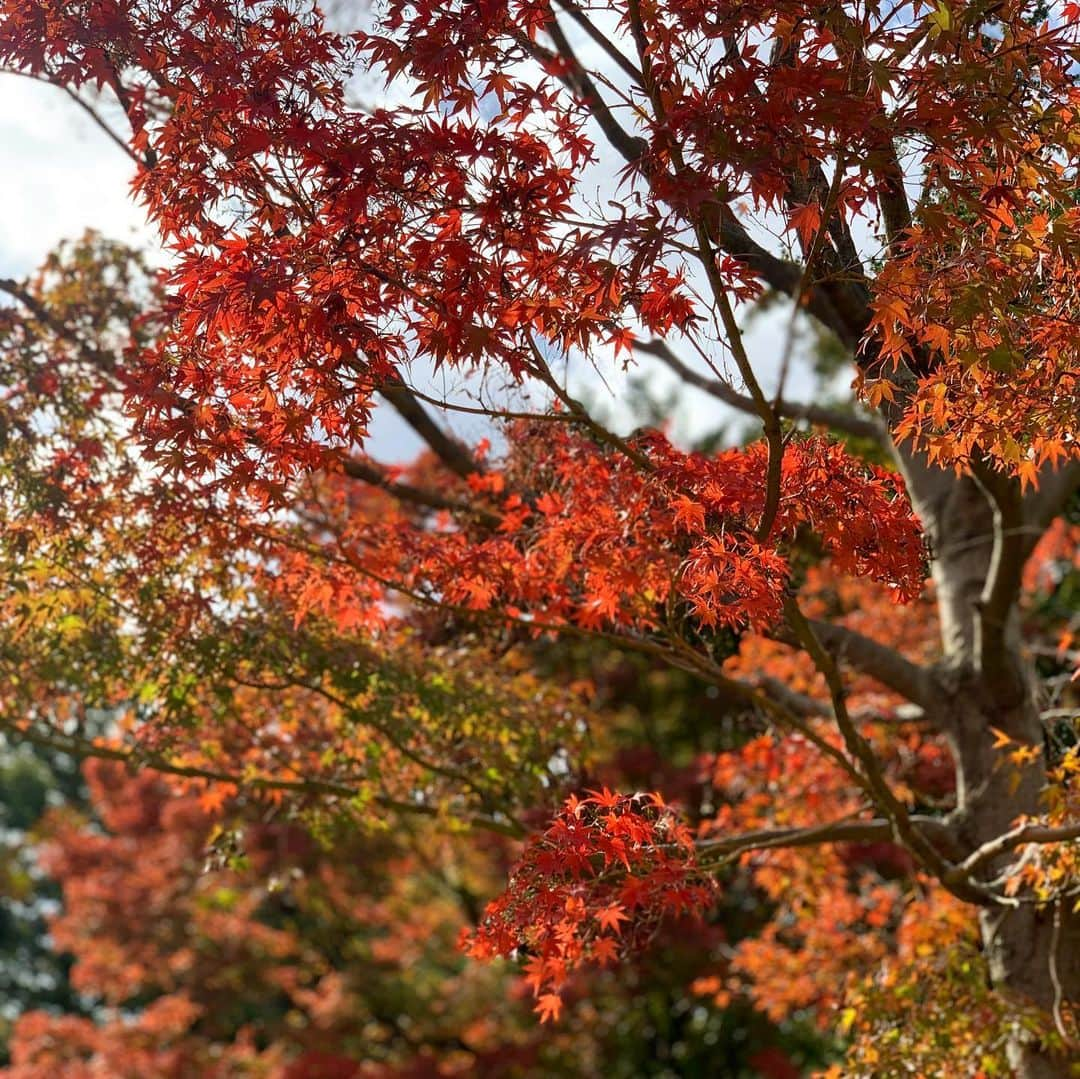
[[[0,282],[5,730],[202,813],[525,839],[463,945],[527,956],[541,1019],[742,873],[777,916],[703,999],[838,1014],[851,1074],[1068,1074],[1077,14],[3,0],[4,65],[122,112],[165,252]],[[779,356],[740,324],[766,293]],[[785,396],[804,321],[858,407]],[[571,390],[635,356],[756,441]],[[370,456],[376,407],[411,464]],[[578,782],[595,709],[551,637],[692,673],[746,737],[671,806]],[[974,1002],[944,1061],[916,988]]]

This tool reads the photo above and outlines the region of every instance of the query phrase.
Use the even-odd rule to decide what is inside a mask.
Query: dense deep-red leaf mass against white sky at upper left
[[[447,14],[470,29],[444,28],[448,75],[460,39],[516,32],[504,5],[473,6]],[[623,312],[687,324],[656,245],[622,265],[603,229],[567,232],[590,151],[583,118],[528,130],[557,111],[553,91],[522,91],[528,105],[492,124],[368,114],[345,87],[357,40],[387,63],[376,39],[327,32],[307,3],[186,9],[18,0],[0,25],[5,62],[107,84],[127,108],[135,187],[174,252],[171,331],[132,401],[166,463],[280,496],[363,440],[373,393],[418,352],[518,374],[534,334],[589,348]],[[408,52],[422,66],[422,41]]]

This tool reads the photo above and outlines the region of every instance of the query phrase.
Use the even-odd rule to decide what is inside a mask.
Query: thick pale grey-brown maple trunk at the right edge
[[[988,493],[970,475],[929,467],[921,455],[897,450],[897,458],[931,545],[945,657],[937,672],[943,699],[937,718],[956,760],[959,838],[963,849],[975,850],[1008,832],[1018,817],[1044,812],[1044,754],[1020,769],[994,748],[1000,731],[1017,745],[1043,750],[1036,682],[1023,660],[1015,601],[1002,628],[1004,655],[999,639],[987,658],[982,639],[982,604],[1002,530]],[[1013,850],[987,863],[982,878],[1001,876],[1016,858]],[[1076,1077],[1076,1062],[1054,1044],[1053,1033],[1049,1039],[1037,1033],[1054,1031],[1063,1007],[1080,1007],[1080,916],[1071,901],[1040,911],[1025,898],[1017,906],[983,909],[978,921],[994,987],[1017,1016],[1008,1047],[1015,1075]],[[1025,1025],[1025,1013],[1036,1021]]]

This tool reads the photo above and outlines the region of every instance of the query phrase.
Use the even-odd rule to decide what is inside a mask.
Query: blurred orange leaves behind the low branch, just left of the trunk
[[[824,724],[816,733],[837,743]],[[761,736],[720,754],[710,778],[721,805],[703,826],[706,837],[814,827],[862,811],[850,779],[800,734]],[[703,844],[707,851],[707,838]],[[699,992],[719,1003],[745,994],[778,1022],[813,1009],[822,1025],[832,1024],[852,972],[889,955],[882,930],[895,928],[909,896],[888,878],[909,875],[909,857],[888,842],[845,844],[747,851],[738,862],[777,913],[734,945],[723,973],[703,979]]]

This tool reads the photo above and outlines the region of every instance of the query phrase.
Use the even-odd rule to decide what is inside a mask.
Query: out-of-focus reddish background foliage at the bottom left
[[[465,914],[444,874],[453,866],[463,888],[494,888],[500,842],[350,827],[332,846],[319,838],[325,820],[308,827],[267,807],[245,811],[242,798],[208,811],[168,777],[114,763],[92,761],[84,774],[94,819],[53,810],[39,849],[63,888],[50,932],[94,1013],[21,1015],[4,1079],[528,1067],[535,1024],[504,975],[455,963]]]

